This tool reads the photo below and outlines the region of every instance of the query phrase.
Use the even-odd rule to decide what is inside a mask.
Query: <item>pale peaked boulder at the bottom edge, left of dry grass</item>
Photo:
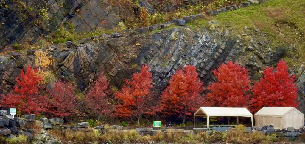
[[[34,136],[32,144],[61,144],[61,142],[44,129],[41,129],[40,132]]]

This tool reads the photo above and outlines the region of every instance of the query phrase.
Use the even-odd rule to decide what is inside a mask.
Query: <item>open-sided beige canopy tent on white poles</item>
[[[217,107],[201,107],[194,114],[194,128],[195,117],[206,116],[207,128],[209,129],[209,121],[212,116],[231,116],[231,117],[251,117],[253,127],[253,115],[247,108],[217,108]]]

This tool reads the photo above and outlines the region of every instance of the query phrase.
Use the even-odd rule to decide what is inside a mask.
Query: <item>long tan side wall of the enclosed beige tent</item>
[[[282,118],[280,117],[255,117],[255,125],[263,127],[265,125],[273,125],[275,129],[282,129]]]

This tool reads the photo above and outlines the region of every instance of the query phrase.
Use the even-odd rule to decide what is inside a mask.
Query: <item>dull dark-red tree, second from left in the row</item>
[[[76,113],[76,97],[74,87],[71,83],[65,84],[61,80],[52,84],[47,91],[52,96],[50,101],[50,112],[54,116],[66,117]]]

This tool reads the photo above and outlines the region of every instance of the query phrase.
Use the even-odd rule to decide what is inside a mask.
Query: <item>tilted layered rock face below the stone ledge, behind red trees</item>
[[[217,22],[210,22],[217,25]],[[178,27],[153,34],[109,38],[107,35],[67,42],[47,47],[56,62],[49,68],[57,77],[75,81],[85,90],[97,74],[104,72],[111,84],[120,87],[141,65],[148,64],[157,91],[162,91],[170,76],[186,64],[196,66],[205,86],[215,81],[212,70],[228,60],[249,69],[252,80],[258,80],[261,70],[276,64],[285,48],[268,47],[268,36],[246,27],[248,37],[235,36],[223,29],[190,29]],[[90,42],[99,39],[99,42]],[[0,87],[5,93],[13,87],[16,76],[27,64],[34,64],[34,51],[0,57]],[[304,112],[304,68],[298,70],[300,109]],[[295,73],[291,71],[290,73]]]

